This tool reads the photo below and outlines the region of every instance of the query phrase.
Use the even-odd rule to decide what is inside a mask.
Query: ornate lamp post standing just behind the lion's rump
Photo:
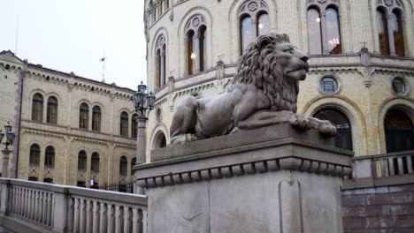
[[[152,92],[147,94],[147,86],[143,85],[142,82],[138,85],[138,91],[131,98],[134,102],[134,107],[138,112],[137,121],[137,137],[136,137],[136,163],[145,162],[145,151],[146,151],[146,134],[145,124],[148,120],[149,111],[154,109],[156,97]]]

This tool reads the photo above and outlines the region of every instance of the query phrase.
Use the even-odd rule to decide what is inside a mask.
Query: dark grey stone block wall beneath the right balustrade
[[[342,192],[345,233],[414,232],[414,184]]]

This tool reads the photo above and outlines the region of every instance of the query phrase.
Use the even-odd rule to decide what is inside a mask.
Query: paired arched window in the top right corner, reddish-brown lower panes
[[[381,54],[405,56],[403,4],[400,0],[378,0],[377,6],[377,30]]]

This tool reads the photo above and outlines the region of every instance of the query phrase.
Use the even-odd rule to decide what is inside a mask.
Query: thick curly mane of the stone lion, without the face
[[[276,44],[290,42],[288,34],[267,34],[249,44],[239,59],[234,84],[254,84],[271,101],[271,110],[296,112],[299,82],[284,77]]]

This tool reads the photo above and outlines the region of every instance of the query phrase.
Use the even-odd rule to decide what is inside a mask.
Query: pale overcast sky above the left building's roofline
[[[146,82],[142,0],[0,0],[0,50],[29,63],[136,89]],[[19,30],[18,28],[19,22]]]

